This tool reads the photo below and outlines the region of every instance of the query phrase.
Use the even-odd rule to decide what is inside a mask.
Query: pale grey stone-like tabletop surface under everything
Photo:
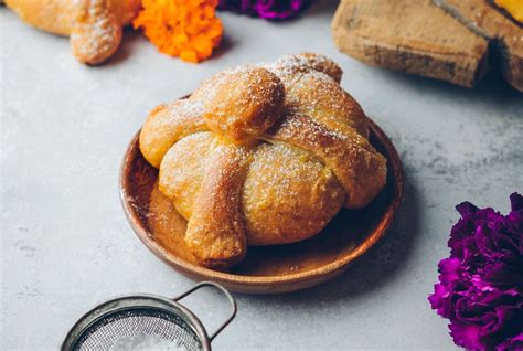
[[[301,51],[324,53],[343,86],[391,136],[405,168],[394,230],[339,279],[284,296],[236,296],[239,313],[215,350],[451,349],[426,300],[465,200],[509,209],[523,191],[523,95],[497,78],[470,91],[365,66],[330,39],[335,1],[274,24],[221,13],[226,40],[200,65],[126,33],[107,65],[86,67],[65,39],[0,8],[0,349],[56,349],[71,325],[108,297],[173,296],[192,286],[129,228],[118,167],[148,111],[226,66]],[[212,329],[225,313],[213,294],[189,306]]]

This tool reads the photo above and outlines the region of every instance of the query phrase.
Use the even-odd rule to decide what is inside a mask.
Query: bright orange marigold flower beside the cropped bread
[[[143,10],[134,21],[164,54],[188,62],[209,59],[223,35],[216,18],[218,0],[143,0]]]

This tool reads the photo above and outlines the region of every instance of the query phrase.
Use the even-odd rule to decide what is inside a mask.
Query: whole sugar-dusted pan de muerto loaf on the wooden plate
[[[248,245],[309,238],[383,189],[386,160],[340,78],[324,56],[292,55],[226,70],[151,111],[140,150],[201,265],[225,269]]]

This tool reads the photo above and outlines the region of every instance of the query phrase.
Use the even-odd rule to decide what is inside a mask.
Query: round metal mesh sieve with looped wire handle
[[[200,319],[179,304],[202,287],[221,290],[231,302],[231,316],[207,336]],[[211,350],[211,342],[236,316],[236,301],[222,286],[203,281],[173,298],[156,295],[130,295],[105,301],[85,313],[73,326],[62,351],[111,350],[120,340],[140,336],[154,337],[172,350]],[[169,348],[171,350],[171,348]]]

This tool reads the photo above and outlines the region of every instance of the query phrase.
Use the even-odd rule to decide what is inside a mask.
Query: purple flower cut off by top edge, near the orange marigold
[[[305,9],[310,0],[220,0],[218,8],[266,20],[285,20]]]

